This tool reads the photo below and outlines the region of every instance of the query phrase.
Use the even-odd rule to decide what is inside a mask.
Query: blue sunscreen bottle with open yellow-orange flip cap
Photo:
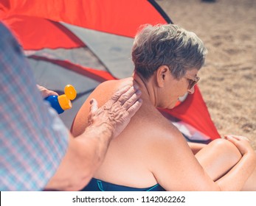
[[[69,110],[72,107],[71,100],[74,100],[77,96],[77,91],[72,85],[66,85],[64,88],[64,94],[60,96],[52,95],[45,98],[52,108],[54,108],[59,114],[64,110]]]

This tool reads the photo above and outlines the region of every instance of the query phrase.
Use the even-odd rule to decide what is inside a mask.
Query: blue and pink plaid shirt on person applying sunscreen
[[[0,36],[0,191],[40,191],[66,153],[68,132],[1,22]]]

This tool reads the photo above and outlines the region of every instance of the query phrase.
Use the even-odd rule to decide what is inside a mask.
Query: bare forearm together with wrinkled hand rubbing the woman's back
[[[86,186],[103,163],[111,139],[125,129],[142,105],[141,92],[137,89],[136,85],[129,85],[118,90],[100,108],[95,99],[91,100],[85,132],[76,138],[69,134],[66,154],[46,188],[77,191]]]

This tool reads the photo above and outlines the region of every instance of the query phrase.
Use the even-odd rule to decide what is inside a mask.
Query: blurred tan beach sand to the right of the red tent
[[[198,85],[220,135],[246,136],[256,150],[256,1],[157,3],[208,49]]]

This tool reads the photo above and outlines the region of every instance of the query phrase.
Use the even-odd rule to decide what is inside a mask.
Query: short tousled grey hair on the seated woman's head
[[[174,24],[144,25],[132,48],[135,71],[148,79],[159,66],[167,65],[174,78],[180,79],[191,68],[204,65],[207,49],[193,32]]]

